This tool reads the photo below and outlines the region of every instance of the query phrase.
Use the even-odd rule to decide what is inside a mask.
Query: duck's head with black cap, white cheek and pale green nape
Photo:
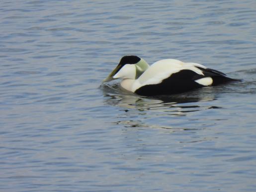
[[[103,82],[117,78],[137,79],[148,67],[149,64],[138,56],[124,56]]]

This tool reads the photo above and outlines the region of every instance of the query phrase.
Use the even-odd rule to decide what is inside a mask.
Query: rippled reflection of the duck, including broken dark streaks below
[[[207,105],[209,101],[216,98],[214,87],[205,87],[183,94],[155,97],[123,92],[117,84],[102,85],[101,89],[105,97],[105,104],[118,106],[122,108],[120,111],[124,111],[113,123],[116,125],[123,124],[126,128],[165,128],[171,131],[201,129],[184,127],[187,116],[201,110],[221,108]],[[186,119],[184,120],[184,118]],[[198,117],[195,115],[190,121],[197,119]],[[182,120],[182,124],[177,123]]]

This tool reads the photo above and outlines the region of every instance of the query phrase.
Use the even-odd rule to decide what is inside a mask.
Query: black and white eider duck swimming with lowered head
[[[103,83],[121,78],[120,86],[143,96],[171,95],[239,81],[202,64],[164,59],[149,65],[138,56],[123,56]]]

